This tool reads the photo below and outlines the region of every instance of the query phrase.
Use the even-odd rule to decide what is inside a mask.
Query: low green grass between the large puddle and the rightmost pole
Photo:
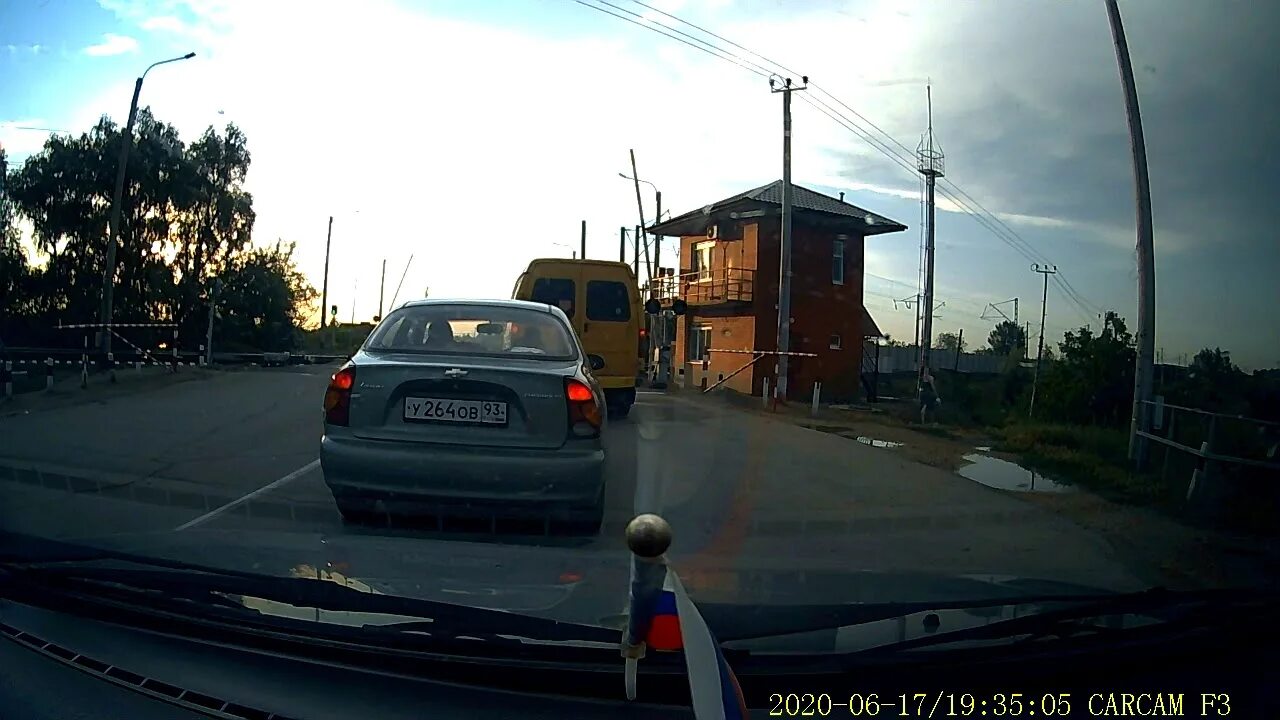
[[[1170,498],[1170,488],[1158,475],[1129,468],[1129,437],[1120,429],[1018,424],[1000,432],[996,448],[1015,452],[1024,465],[1105,497],[1142,505]]]

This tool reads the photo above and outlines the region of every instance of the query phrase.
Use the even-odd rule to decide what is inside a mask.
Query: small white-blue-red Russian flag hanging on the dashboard
[[[745,720],[742,688],[710,628],[671,568],[666,568],[662,591],[648,607],[652,615],[644,635],[645,644],[658,651],[684,650],[694,716],[698,720]]]

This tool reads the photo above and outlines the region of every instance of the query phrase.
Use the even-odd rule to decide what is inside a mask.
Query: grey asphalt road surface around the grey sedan
[[[394,592],[428,593],[425,579],[452,573],[463,588],[431,592],[509,607],[554,607],[559,591],[543,591],[580,583],[589,569],[608,578],[579,593],[577,610],[590,605],[593,618],[621,609],[622,527],[637,512],[667,518],[673,566],[712,601],[858,601],[883,593],[858,580],[876,574],[1107,589],[1149,578],[1033,503],[892,450],[645,391],[632,415],[608,428],[598,536],[504,521],[347,525],[317,462],[332,370],[212,373],[99,402],[0,413],[0,528],[278,565],[271,571],[285,570],[282,562],[293,573],[321,568]]]

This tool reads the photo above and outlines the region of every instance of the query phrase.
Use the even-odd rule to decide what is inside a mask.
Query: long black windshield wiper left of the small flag
[[[99,565],[101,561],[109,561],[111,566]],[[104,551],[91,560],[42,559],[35,562],[0,560],[0,594],[4,594],[5,585],[24,582],[55,591],[90,589],[102,597],[116,594],[134,603],[160,602],[172,606],[178,602],[188,612],[200,605],[223,611],[234,607],[264,621],[270,621],[273,616],[244,607],[228,596],[261,598],[302,609],[420,618],[430,620],[426,625],[434,626],[433,637],[444,638],[507,639],[500,637],[508,635],[534,641],[617,643],[620,637],[618,630],[609,628],[362,592],[324,579],[259,575],[111,551]],[[366,626],[378,628],[374,624]],[[421,630],[424,626],[416,626],[415,630]]]

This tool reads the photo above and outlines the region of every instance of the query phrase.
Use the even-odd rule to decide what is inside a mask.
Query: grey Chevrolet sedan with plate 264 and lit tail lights
[[[520,516],[599,528],[604,395],[564,313],[419,300],[329,383],[320,466],[348,520]]]

